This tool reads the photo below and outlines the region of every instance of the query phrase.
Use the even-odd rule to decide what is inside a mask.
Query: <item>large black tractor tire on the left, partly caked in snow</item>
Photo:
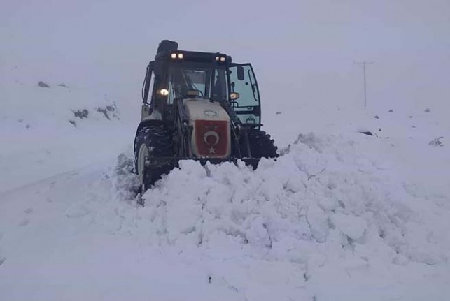
[[[136,135],[134,145],[134,166],[144,193],[171,168],[160,166],[149,168],[146,161],[150,158],[174,156],[171,135],[162,126],[147,126]]]

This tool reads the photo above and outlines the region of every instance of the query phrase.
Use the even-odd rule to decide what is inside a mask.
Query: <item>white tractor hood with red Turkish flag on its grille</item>
[[[230,116],[209,99],[184,101],[192,126],[192,153],[199,158],[227,158],[231,153]]]

